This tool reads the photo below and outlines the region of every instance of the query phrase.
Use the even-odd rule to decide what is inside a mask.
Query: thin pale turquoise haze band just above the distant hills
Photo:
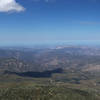
[[[48,46],[100,46],[100,41],[90,40],[70,40],[70,41],[59,41],[59,42],[41,42],[41,43],[10,43],[1,44],[0,47],[48,47]]]

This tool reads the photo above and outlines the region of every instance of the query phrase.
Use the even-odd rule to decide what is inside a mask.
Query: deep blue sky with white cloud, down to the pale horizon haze
[[[0,45],[100,41],[100,0],[0,0]]]

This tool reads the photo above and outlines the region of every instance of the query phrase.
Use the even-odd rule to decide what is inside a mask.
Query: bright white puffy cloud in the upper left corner
[[[25,8],[15,0],[0,0],[0,12],[21,12]]]

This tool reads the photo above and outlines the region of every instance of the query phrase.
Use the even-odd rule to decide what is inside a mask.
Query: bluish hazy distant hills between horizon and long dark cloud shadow
[[[100,71],[100,48],[58,46],[55,48],[1,48],[0,70],[11,72],[54,69]]]

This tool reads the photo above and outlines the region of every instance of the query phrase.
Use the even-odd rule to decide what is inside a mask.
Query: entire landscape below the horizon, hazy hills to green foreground
[[[100,100],[100,48],[1,48],[0,100]]]

